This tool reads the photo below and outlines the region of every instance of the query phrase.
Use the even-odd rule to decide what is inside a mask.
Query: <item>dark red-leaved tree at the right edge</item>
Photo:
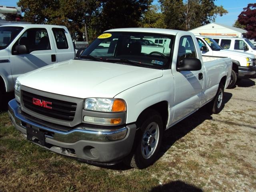
[[[246,38],[256,40],[256,3],[244,8],[238,16],[238,22],[245,26]]]

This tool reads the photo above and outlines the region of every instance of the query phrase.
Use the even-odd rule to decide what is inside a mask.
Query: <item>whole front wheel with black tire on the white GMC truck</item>
[[[137,142],[132,154],[124,163],[137,169],[143,169],[156,160],[163,134],[163,122],[160,114],[155,110],[147,110],[137,122]]]

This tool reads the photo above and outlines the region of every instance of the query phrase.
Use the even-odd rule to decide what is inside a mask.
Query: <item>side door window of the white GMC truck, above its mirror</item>
[[[180,38],[178,49],[178,64],[183,58],[196,58],[196,50],[191,36],[183,36]]]

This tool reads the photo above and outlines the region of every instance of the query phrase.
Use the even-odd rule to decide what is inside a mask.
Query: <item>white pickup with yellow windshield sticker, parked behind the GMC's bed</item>
[[[232,73],[228,88],[234,87],[238,79],[252,78],[256,73],[254,54],[222,49],[217,42],[206,36],[196,36],[202,56],[232,59]]]

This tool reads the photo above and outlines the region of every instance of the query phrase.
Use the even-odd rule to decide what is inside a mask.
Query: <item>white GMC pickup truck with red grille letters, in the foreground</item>
[[[164,46],[142,43],[155,39]],[[79,58],[19,76],[9,116],[28,140],[48,150],[145,168],[164,130],[205,104],[213,113],[222,110],[231,70],[230,58],[203,62],[190,32],[108,30]]]

